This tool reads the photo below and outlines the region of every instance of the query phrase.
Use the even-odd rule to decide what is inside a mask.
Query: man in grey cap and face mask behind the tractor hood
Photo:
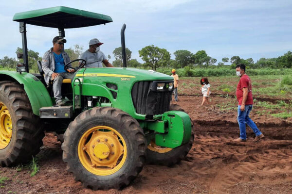
[[[107,60],[106,55],[100,51],[100,45],[102,45],[97,38],[93,38],[89,41],[89,49],[83,52],[80,56],[80,59],[86,61],[85,67],[103,67],[104,63],[107,67],[114,67]],[[80,63],[79,63],[80,65]]]

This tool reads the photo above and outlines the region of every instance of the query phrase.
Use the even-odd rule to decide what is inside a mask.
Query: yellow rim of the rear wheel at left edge
[[[12,120],[7,107],[0,102],[0,149],[8,146],[12,136]]]

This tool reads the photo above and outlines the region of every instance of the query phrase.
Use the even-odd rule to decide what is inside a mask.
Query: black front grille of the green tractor
[[[162,91],[156,90],[156,83],[165,82]],[[171,94],[173,90],[166,88],[169,82],[173,81],[139,81],[133,85],[131,96],[136,113],[151,115],[163,114],[169,111]]]

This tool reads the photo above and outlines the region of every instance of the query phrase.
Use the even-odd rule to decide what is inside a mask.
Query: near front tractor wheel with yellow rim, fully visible
[[[146,138],[128,113],[96,107],[80,113],[64,133],[63,161],[92,190],[127,186],[145,163]]]

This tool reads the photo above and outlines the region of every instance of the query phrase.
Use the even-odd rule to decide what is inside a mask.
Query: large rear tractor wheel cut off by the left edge
[[[0,81],[0,165],[27,162],[39,152],[44,132],[20,84]]]

